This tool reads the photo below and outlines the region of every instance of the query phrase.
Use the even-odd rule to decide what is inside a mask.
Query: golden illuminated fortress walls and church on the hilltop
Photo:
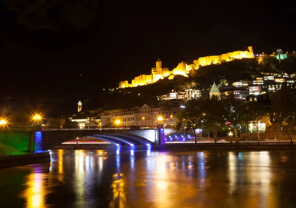
[[[249,51],[235,51],[227,54],[222,54],[220,56],[208,56],[201,57],[197,60],[194,60],[192,65],[188,66],[184,61],[178,64],[176,68],[172,71],[169,71],[169,68],[162,68],[162,62],[160,59],[156,60],[156,67],[151,69],[151,74],[145,75],[142,74],[132,80],[132,83],[129,84],[128,81],[119,82],[119,88],[128,88],[128,87],[137,87],[142,85],[147,85],[163,79],[164,77],[169,77],[173,79],[174,75],[183,75],[187,76],[188,72],[191,69],[198,69],[198,67],[218,64],[222,61],[231,61],[233,59],[242,59],[242,58],[253,58],[253,47],[248,47]]]

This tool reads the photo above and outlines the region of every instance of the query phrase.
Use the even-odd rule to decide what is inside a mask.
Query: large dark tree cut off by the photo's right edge
[[[284,131],[288,133],[291,144],[293,144],[291,134],[296,131],[296,98],[294,92],[283,88],[270,97],[272,101],[271,111],[278,115],[284,126]]]

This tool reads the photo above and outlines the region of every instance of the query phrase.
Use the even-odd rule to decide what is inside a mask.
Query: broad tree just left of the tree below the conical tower
[[[178,112],[176,117],[176,129],[184,129],[185,131],[193,130],[195,143],[197,143],[196,129],[201,127],[203,110],[202,102],[200,100],[187,101],[185,108]]]

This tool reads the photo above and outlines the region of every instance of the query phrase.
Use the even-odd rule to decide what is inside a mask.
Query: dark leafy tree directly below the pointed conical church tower
[[[214,141],[217,142],[218,130],[225,124],[224,107],[218,96],[203,102],[203,128],[213,132]]]

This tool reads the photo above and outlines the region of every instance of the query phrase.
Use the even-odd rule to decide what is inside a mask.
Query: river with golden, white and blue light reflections
[[[50,150],[0,169],[1,208],[296,207],[296,151]]]

